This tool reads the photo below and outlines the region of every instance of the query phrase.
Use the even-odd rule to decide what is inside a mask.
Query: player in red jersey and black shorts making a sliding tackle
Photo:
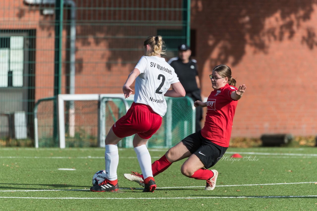
[[[153,176],[165,171],[173,162],[188,158],[181,167],[182,174],[206,180],[205,190],[215,188],[218,171],[208,169],[222,158],[229,147],[237,101],[242,97],[246,86],[243,84],[239,88],[235,87],[236,80],[232,78],[231,69],[227,65],[215,66],[209,77],[214,90],[207,102],[194,102],[195,107],[207,107],[203,129],[187,136],[169,149],[163,157],[154,161]],[[124,174],[124,177],[144,185],[143,175],[139,173]]]

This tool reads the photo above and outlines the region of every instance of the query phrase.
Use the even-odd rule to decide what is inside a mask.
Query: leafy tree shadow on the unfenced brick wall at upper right
[[[246,45],[254,53],[267,53],[270,42],[291,40],[302,23],[311,18],[316,0],[288,1],[193,1],[192,22],[201,23],[208,34],[197,46],[207,46],[202,61],[213,53],[210,66],[238,64]],[[316,6],[316,5],[315,5]],[[314,28],[307,28],[301,43],[309,49],[317,46]],[[199,32],[197,32],[198,34]]]

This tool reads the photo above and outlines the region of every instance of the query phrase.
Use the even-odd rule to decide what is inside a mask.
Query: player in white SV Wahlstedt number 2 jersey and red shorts
[[[145,178],[143,191],[153,192],[156,189],[151,156],[145,144],[162,124],[162,116],[165,115],[167,108],[164,96],[185,96],[185,90],[174,69],[165,62],[164,58],[161,58],[161,54],[165,54],[162,46],[161,36],[150,36],[144,41],[145,56],[141,57],[122,88],[125,98],[129,97],[133,92],[130,86],[135,80],[134,102],[126,115],[114,123],[107,134],[106,179],[103,183],[91,187],[91,191],[105,192],[119,189],[117,143],[133,134],[135,134],[133,147]],[[168,90],[171,86],[173,90]]]

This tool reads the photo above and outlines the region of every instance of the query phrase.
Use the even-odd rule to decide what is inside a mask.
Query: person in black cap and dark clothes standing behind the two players
[[[186,44],[178,46],[178,57],[171,58],[168,61],[183,85],[186,96],[189,96],[194,102],[201,101],[200,81],[197,72],[197,61],[191,59],[191,49]],[[201,130],[201,120],[203,118],[202,107],[196,107],[196,132]]]

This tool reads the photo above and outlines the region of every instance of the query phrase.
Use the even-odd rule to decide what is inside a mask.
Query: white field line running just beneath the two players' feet
[[[265,183],[265,184],[243,184],[243,185],[217,185],[218,187],[232,187],[232,186],[255,186],[255,185],[289,185],[289,184],[308,184],[308,183],[317,183],[317,182],[300,182],[300,183]],[[184,187],[158,187],[157,189],[166,189],[166,188],[204,188],[205,186],[184,186]],[[131,189],[131,188],[120,188],[120,189]],[[143,188],[134,188],[134,189],[143,189]],[[35,191],[90,191],[89,189],[42,189],[42,190],[0,190],[0,192],[35,192]]]

